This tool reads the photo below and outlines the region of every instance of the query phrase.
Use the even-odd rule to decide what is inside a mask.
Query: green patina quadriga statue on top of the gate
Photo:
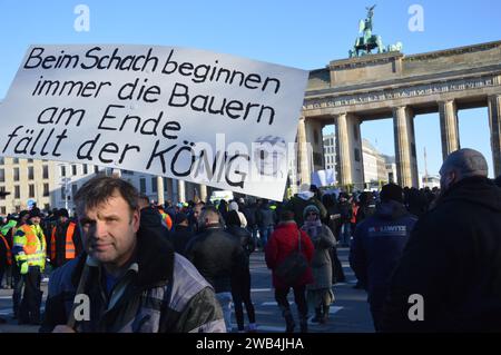
[[[387,46],[387,48],[384,48],[381,36],[372,34],[373,17],[374,17],[374,8],[376,6],[374,4],[370,8],[365,8],[367,10],[367,17],[365,20],[360,20],[360,24],[358,24],[358,32],[363,33],[363,36],[361,36],[356,39],[355,46],[348,52],[350,58],[371,55],[373,50],[376,50],[377,53],[402,50],[401,42],[397,42],[396,45]]]

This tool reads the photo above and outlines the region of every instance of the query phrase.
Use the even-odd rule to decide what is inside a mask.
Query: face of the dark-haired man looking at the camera
[[[95,208],[79,211],[82,241],[87,253],[104,264],[122,266],[136,248],[139,211],[130,211],[116,194]]]

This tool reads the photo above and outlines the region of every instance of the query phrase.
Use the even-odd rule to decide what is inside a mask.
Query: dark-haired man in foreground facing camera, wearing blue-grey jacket
[[[134,186],[96,177],[75,204],[85,253],[52,274],[41,332],[225,331],[212,286],[156,228],[139,230]],[[88,317],[76,317],[77,293],[87,296]]]

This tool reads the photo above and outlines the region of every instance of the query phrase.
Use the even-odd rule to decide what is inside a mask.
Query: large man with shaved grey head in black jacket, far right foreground
[[[394,272],[383,329],[500,332],[501,189],[473,149],[449,155],[440,176],[441,196]]]

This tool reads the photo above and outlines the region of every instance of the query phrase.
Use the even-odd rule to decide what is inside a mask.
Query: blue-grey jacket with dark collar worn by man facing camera
[[[50,277],[46,315],[40,332],[66,324],[86,265],[84,253]],[[77,332],[184,333],[224,332],[223,312],[210,285],[170,244],[151,229],[137,236],[135,263],[107,293],[104,268],[89,267],[84,293],[90,319]]]

